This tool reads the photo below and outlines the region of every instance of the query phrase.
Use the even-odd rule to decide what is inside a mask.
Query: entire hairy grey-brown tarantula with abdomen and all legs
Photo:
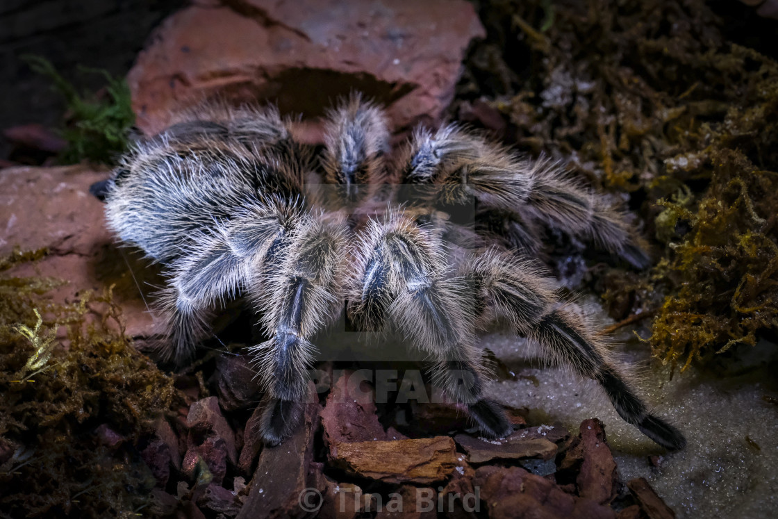
[[[389,160],[386,117],[357,95],[328,112],[321,149],[296,142],[272,107],[210,104],[175,117],[100,186],[107,220],[167,269],[167,356],[191,356],[224,300],[243,296],[257,311],[269,338],[254,346],[268,443],[298,423],[311,341],[345,309],[356,328],[390,328],[426,352],[436,383],[491,437],[512,428],[482,395],[476,332],[500,321],[597,380],[657,444],[684,447],[533,266],[539,226],[638,268],[648,260],[622,214],[552,163],[455,125],[417,129]],[[457,207],[469,216],[457,219]]]

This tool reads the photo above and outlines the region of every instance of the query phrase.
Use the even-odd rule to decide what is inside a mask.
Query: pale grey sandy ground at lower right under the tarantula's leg
[[[746,349],[737,363],[727,364],[725,377],[720,370],[692,368],[668,380],[666,367],[649,366],[646,346],[632,331],[612,339],[622,361],[640,367],[643,395],[689,440],[685,451],[664,455],[659,468],[647,457],[664,454],[662,449],[619,419],[597,384],[542,366],[522,339],[483,339],[516,375],[492,382],[489,393],[505,405],[529,408],[532,422],[559,421],[576,430],[583,419],[601,419],[622,479],[648,479],[678,517],[775,517],[778,377],[769,369],[778,365],[776,346],[762,342]]]

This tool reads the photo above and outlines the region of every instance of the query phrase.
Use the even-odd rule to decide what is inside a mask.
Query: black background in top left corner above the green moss
[[[0,0],[0,129],[58,123],[63,102],[51,80],[20,58],[38,54],[75,85],[95,90],[100,75],[78,65],[124,75],[153,28],[187,0]]]

